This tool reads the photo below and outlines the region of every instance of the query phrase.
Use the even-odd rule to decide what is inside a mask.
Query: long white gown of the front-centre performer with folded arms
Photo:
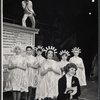
[[[44,61],[43,66],[41,67],[41,70],[44,71],[50,67],[60,72],[58,63],[54,60],[49,60],[49,59]],[[41,81],[39,97],[43,99],[46,97],[50,97],[50,98],[57,97],[59,78],[60,78],[60,75],[55,74],[53,71],[49,71],[48,73],[46,73],[43,76],[43,79]]]

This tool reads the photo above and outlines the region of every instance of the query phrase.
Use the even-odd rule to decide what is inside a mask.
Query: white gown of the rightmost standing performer
[[[79,79],[80,86],[86,85],[86,76],[85,76],[85,67],[83,64],[83,60],[80,57],[71,57],[69,62],[74,63],[83,69],[78,68],[76,71],[76,77]]]

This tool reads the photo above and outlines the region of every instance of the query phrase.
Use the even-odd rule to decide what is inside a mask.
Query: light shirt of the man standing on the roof
[[[27,13],[27,14],[34,13],[32,6],[33,6],[33,4],[30,0],[28,2],[22,1],[22,7],[25,10],[25,13]]]

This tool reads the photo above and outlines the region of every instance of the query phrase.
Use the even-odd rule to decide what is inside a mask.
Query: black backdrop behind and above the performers
[[[3,0],[4,21],[21,25],[22,0]],[[98,1],[92,0],[31,0],[36,13],[36,45],[54,45],[58,51],[82,49],[87,78],[93,57],[98,53]],[[89,15],[91,12],[91,15]],[[31,22],[27,20],[27,26]],[[72,55],[71,55],[72,56]]]

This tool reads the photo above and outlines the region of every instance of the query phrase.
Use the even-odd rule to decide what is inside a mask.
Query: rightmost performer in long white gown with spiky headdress
[[[72,53],[74,54],[73,57],[70,58],[69,62],[74,63],[77,65],[76,76],[79,79],[80,86],[86,85],[86,75],[85,75],[85,67],[82,58],[78,55],[81,53],[81,49],[79,47],[75,47],[72,49]]]

